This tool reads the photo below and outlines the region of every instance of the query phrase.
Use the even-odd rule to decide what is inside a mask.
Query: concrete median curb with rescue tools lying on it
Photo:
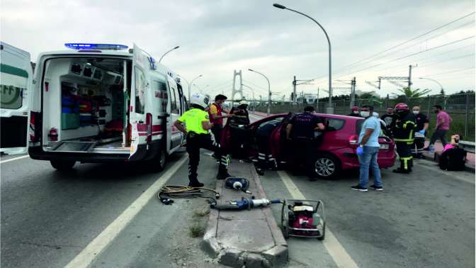
[[[248,177],[251,185],[254,184],[253,195],[256,196],[256,199],[266,198],[266,195],[263,191],[263,186],[259,180],[258,174],[254,169],[253,164],[233,164],[233,167],[239,166],[238,170],[232,170],[230,172],[240,173],[240,174],[249,174]],[[225,189],[223,185],[224,181],[217,181],[216,189],[222,194],[222,198],[219,202],[225,202],[229,200],[230,196],[237,195],[237,192],[227,192],[232,191]],[[251,187],[250,187],[251,190]],[[243,194],[239,194],[243,195]],[[228,196],[228,197],[227,197]],[[235,199],[235,198],[233,198]],[[278,206],[278,205],[276,205]],[[203,235],[203,241],[201,243],[202,249],[207,252],[211,257],[218,258],[220,264],[227,265],[229,267],[280,267],[285,265],[288,262],[288,243],[283,237],[280,228],[274,220],[273,213],[271,208],[255,208],[249,213],[254,213],[254,215],[259,215],[259,221],[246,220],[246,212],[222,212],[211,209],[207,228],[205,230],[205,235]],[[245,213],[245,214],[243,214]],[[262,216],[261,216],[261,214]],[[237,237],[240,236],[242,232],[243,236],[249,235],[254,229],[263,230],[268,229],[269,233],[266,239],[272,240],[270,244],[264,243],[260,247],[246,248],[243,247],[243,244],[240,245],[240,242],[233,244],[233,241],[222,241],[220,235],[223,231],[220,232],[219,223],[226,225],[231,225],[232,231]],[[244,223],[244,224],[242,224]],[[256,232],[255,230],[255,232]],[[244,233],[246,232],[246,233]],[[260,233],[261,235],[266,235]],[[253,239],[253,242],[260,242],[259,238]],[[262,242],[262,241],[261,241]]]

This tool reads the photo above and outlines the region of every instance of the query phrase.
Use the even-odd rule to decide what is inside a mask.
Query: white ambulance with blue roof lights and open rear
[[[58,170],[76,162],[149,161],[163,169],[185,137],[179,77],[134,45],[67,43],[38,56],[29,155]]]

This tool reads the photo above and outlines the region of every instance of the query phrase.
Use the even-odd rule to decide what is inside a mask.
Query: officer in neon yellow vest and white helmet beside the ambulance
[[[212,140],[209,130],[213,123],[208,120],[208,113],[205,107],[208,105],[209,98],[203,94],[193,94],[191,96],[191,110],[186,111],[174,122],[176,128],[186,134],[186,147],[188,152],[188,186],[202,187],[198,182],[198,162],[200,162],[200,148],[215,152],[220,160],[217,179],[226,179],[231,177],[227,172],[228,157],[224,150]],[[183,127],[182,123],[185,123]]]

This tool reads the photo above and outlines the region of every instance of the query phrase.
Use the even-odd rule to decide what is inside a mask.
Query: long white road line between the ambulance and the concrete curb
[[[130,221],[141,211],[141,209],[149,202],[152,197],[157,194],[162,186],[172,177],[172,175],[182,166],[187,159],[186,155],[181,157],[172,167],[170,167],[152,186],[150,186],[139,198],[130,204],[123,213],[115,218],[115,220],[106,227],[94,240],[89,242],[84,250],[82,250],[66,267],[79,268],[88,267],[96,257],[108,247],[118,234],[130,223]]]

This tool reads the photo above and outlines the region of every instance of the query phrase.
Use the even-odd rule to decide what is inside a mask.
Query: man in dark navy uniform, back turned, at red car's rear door
[[[314,116],[314,107],[306,106],[304,113],[299,113],[286,126],[286,138],[291,141],[296,164],[305,164],[306,172],[311,181],[315,181],[314,156],[316,154],[316,139],[314,131],[323,131],[324,122]],[[296,165],[296,167],[297,167]]]

